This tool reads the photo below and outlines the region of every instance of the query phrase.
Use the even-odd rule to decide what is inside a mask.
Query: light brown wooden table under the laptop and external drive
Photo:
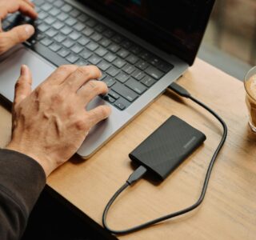
[[[255,239],[256,137],[247,124],[242,82],[197,59],[179,79],[225,119],[228,138],[210,178],[205,201],[191,214],[120,239]],[[222,127],[199,106],[167,91],[89,160],[77,156],[50,176],[47,184],[101,224],[106,202],[132,167],[128,154],[175,114],[206,134],[206,142],[165,182],[154,186],[142,179],[118,198],[108,222],[116,230],[138,225],[194,203],[206,168],[222,136]],[[0,146],[10,140],[10,113],[0,106]]]

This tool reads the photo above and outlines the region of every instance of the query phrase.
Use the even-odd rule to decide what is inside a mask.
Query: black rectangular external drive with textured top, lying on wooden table
[[[129,157],[164,180],[205,140],[205,134],[182,119],[171,116]]]

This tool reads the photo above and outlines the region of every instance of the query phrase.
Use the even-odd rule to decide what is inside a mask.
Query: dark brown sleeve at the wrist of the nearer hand
[[[46,174],[34,159],[11,150],[0,150],[0,239],[19,239]]]

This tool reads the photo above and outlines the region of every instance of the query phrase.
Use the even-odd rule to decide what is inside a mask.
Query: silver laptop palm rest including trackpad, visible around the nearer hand
[[[49,75],[56,69],[50,63],[45,62],[37,54],[34,54],[26,48],[18,50],[14,54],[11,54],[9,58],[0,62],[0,94],[8,99],[10,102],[14,100],[14,86],[20,75],[20,68],[22,64],[26,64],[30,67],[34,89],[42,81],[49,77]],[[101,98],[95,98],[87,106],[87,110],[97,107],[101,104],[108,104]],[[110,106],[110,105],[109,105]],[[90,130],[85,142],[78,150],[78,154],[82,158],[89,158],[91,154],[94,154],[100,146],[113,135],[118,129],[126,124],[131,118],[130,114],[126,111],[120,111],[112,107],[112,114],[107,120],[98,123],[93,129]]]

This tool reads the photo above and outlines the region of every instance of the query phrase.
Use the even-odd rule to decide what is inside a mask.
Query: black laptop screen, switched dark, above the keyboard
[[[82,0],[158,48],[190,65],[214,0]]]

